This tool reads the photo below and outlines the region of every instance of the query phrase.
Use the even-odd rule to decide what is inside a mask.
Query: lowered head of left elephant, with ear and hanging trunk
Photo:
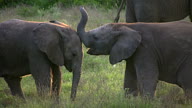
[[[71,98],[76,96],[81,75],[82,45],[75,30],[63,24],[40,23],[34,30],[34,40],[40,51],[58,65],[73,71]]]

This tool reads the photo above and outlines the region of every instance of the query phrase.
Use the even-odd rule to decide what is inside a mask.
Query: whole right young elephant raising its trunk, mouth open
[[[109,55],[111,64],[126,61],[126,94],[153,97],[158,80],[176,84],[191,97],[192,92],[192,24],[111,23],[85,32],[88,20],[82,18],[77,33],[88,54]]]

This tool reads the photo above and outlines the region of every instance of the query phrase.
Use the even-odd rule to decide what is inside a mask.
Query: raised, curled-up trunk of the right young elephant
[[[80,8],[80,12],[81,12],[81,20],[77,26],[77,33],[81,41],[84,43],[84,45],[86,47],[89,47],[89,38],[87,33],[85,32],[85,26],[88,20],[88,15],[86,10],[83,7]]]

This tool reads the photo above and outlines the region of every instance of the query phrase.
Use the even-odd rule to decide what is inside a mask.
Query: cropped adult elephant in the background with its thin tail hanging
[[[125,3],[126,2],[126,3]],[[190,16],[191,0],[122,0],[114,22],[118,22],[122,7],[126,4],[126,22],[169,22]]]

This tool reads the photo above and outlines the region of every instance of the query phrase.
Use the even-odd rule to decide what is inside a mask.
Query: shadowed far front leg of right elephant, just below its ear
[[[126,61],[124,89],[125,89],[125,96],[127,96],[128,94],[132,94],[133,96],[138,95],[136,71],[133,66],[133,63],[130,60]]]

